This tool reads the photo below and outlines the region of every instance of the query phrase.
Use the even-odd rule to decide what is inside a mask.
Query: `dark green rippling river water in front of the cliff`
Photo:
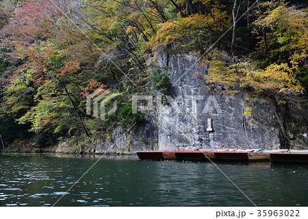
[[[308,166],[0,156],[0,206],[308,206]],[[73,188],[66,194],[67,189]]]

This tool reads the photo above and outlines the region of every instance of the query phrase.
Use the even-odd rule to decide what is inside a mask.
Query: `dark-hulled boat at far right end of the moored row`
[[[308,163],[308,153],[283,153],[269,154],[272,163]]]

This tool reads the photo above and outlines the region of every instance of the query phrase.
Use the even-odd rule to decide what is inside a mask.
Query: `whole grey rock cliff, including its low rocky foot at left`
[[[284,122],[286,108],[279,106],[275,116],[268,99],[252,97],[240,88],[239,92],[230,93],[219,84],[205,84],[203,75],[207,69],[196,65],[196,57],[195,54],[157,54],[155,68],[168,76],[170,87],[164,94],[151,89],[152,95],[146,95],[151,100],[146,110],[138,105],[146,113],[146,122],[129,131],[119,126],[107,141],[73,143],[79,145],[78,151],[279,149],[283,138],[277,116]],[[300,132],[293,141],[305,148],[307,125]],[[57,152],[66,148],[70,146],[64,142]]]

